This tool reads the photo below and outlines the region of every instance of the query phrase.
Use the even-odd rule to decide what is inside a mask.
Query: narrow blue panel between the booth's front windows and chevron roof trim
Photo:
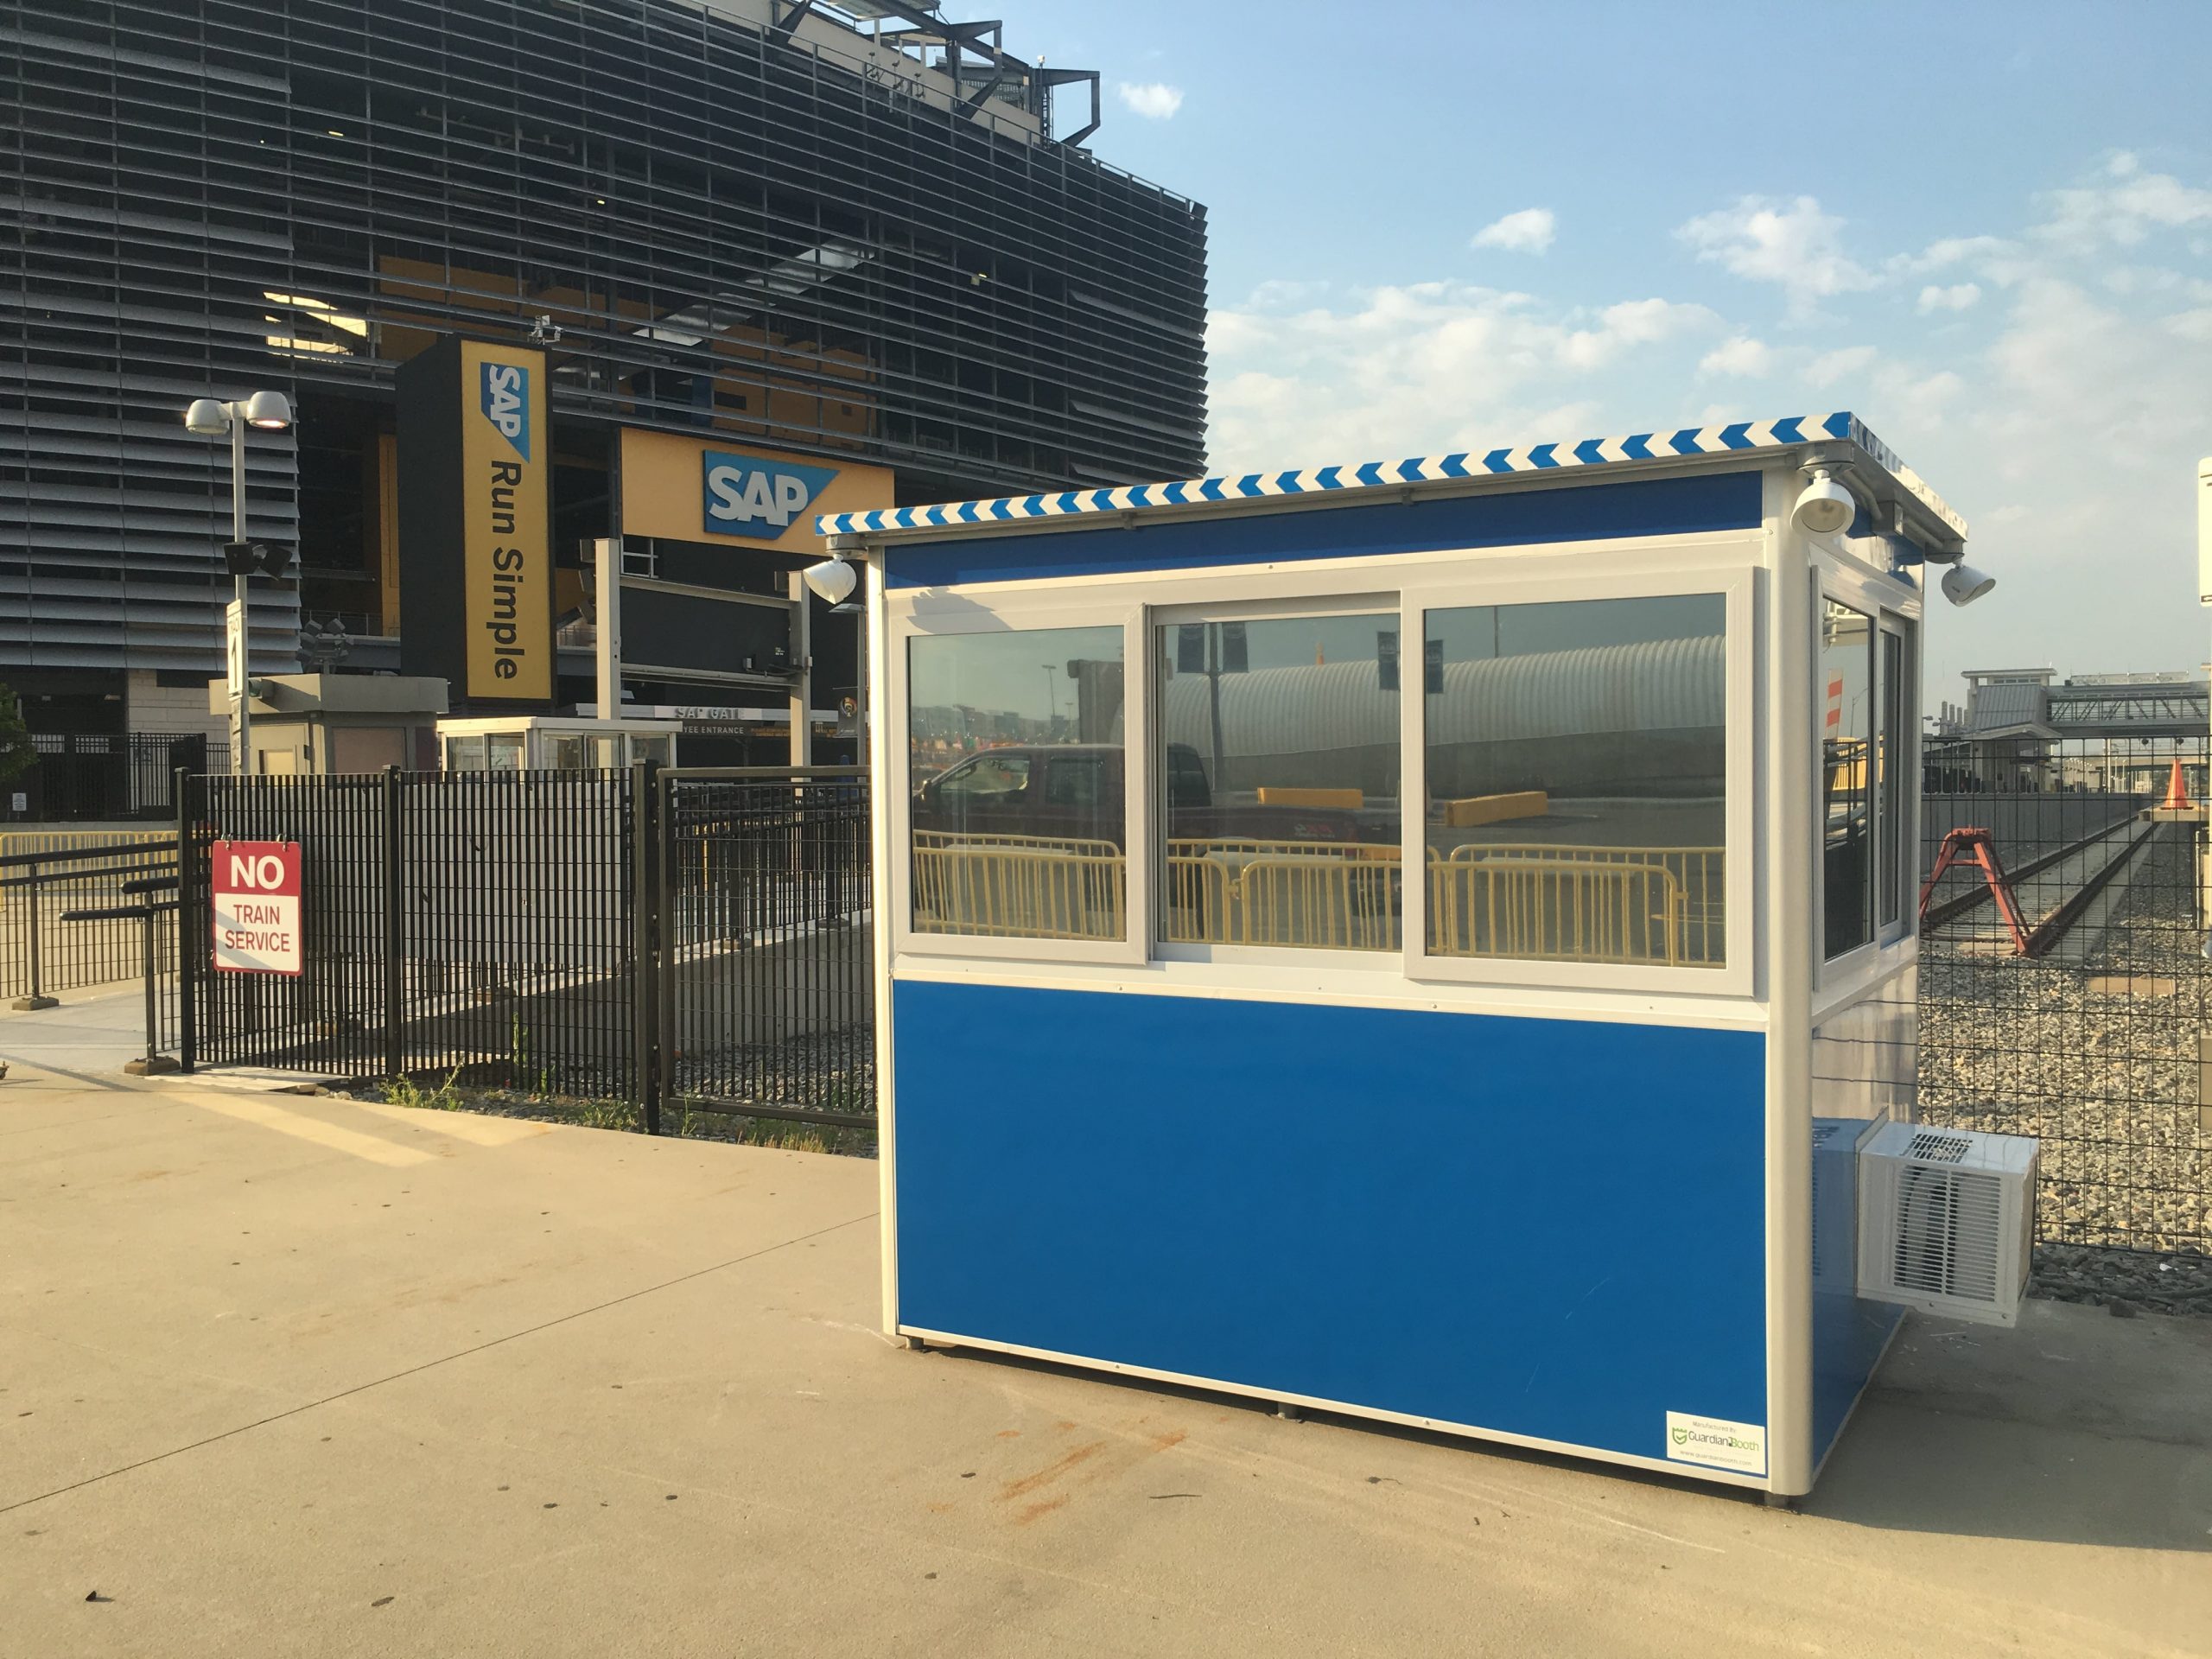
[[[1192,564],[1705,535],[1759,529],[1763,511],[1756,469],[1635,478],[1615,484],[1444,495],[1329,511],[1307,507],[1303,513],[1214,513],[1133,529],[1086,524],[1037,535],[914,542],[889,551],[885,582],[894,588],[938,588],[960,582],[1179,571]]]

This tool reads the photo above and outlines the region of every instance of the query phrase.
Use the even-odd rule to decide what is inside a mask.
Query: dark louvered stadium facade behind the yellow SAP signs
[[[1203,469],[1206,212],[1082,148],[1097,75],[998,24],[24,0],[0,42],[0,681],[33,730],[219,730],[199,396],[299,414],[246,447],[250,535],[299,549],[252,670],[303,622],[396,668],[394,374],[442,334],[546,352],[568,597],[622,429],[883,467],[900,504]],[[588,675],[568,644],[555,701]]]

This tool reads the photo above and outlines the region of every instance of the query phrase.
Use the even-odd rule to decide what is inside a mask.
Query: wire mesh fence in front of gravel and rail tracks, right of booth
[[[2179,765],[2179,796],[2174,794]],[[2212,1250],[2205,737],[1931,745],[1920,1113],[2042,1139],[2046,1243]]]

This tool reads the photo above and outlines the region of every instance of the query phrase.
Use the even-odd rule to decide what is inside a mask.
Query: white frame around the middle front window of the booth
[[[1177,591],[1175,604],[1159,604],[1146,608],[1146,684],[1159,684],[1159,633],[1164,628],[1175,628],[1181,624],[1199,622],[1292,622],[1296,617],[1349,617],[1349,615],[1371,615],[1391,617],[1398,624],[1398,737],[1400,737],[1400,774],[1398,774],[1398,801],[1400,801],[1400,832],[1407,783],[1402,772],[1405,754],[1405,602],[1398,593],[1398,582],[1391,580],[1387,566],[1363,564],[1360,568],[1327,568],[1310,571],[1305,580],[1292,577],[1294,593],[1283,593],[1281,597],[1267,597],[1254,593],[1254,582],[1250,577],[1234,582],[1210,582],[1199,584],[1201,588],[1214,588],[1221,597],[1206,599],[1186,591]],[[1267,582],[1270,588],[1283,588],[1283,582]],[[1152,799],[1161,805],[1166,803],[1166,763],[1168,743],[1161,730],[1161,719],[1166,710],[1155,708],[1152,721],[1146,730],[1146,774],[1152,785]],[[1212,787],[1221,787],[1219,779]],[[1166,874],[1168,860],[1168,823],[1166,812],[1155,810],[1155,816],[1146,821],[1146,865],[1148,874],[1155,876],[1152,891],[1161,894],[1157,876]],[[1159,854],[1155,860],[1152,854]],[[1336,949],[1327,945],[1170,945],[1166,936],[1166,914],[1161,909],[1161,898],[1152,900],[1152,914],[1148,920],[1150,938],[1150,960],[1155,962],[1221,962],[1221,964],[1252,964],[1252,967],[1329,967],[1358,973],[1398,973],[1402,956],[1398,951],[1352,951]]]

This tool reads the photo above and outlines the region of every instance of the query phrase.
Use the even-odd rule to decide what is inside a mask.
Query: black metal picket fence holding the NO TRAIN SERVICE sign
[[[186,1066],[874,1121],[867,799],[810,772],[192,779]],[[299,975],[212,960],[221,841],[296,841]]]

